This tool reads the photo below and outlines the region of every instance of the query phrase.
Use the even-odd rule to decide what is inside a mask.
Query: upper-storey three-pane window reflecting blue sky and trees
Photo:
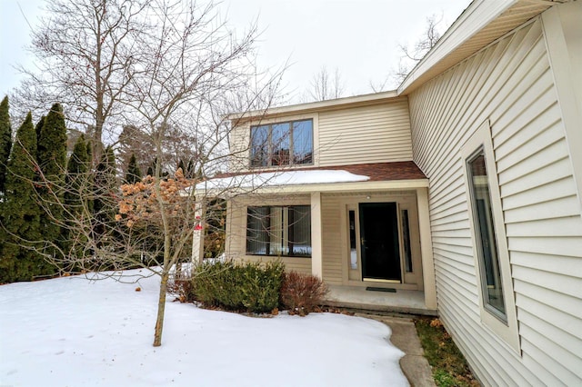
[[[313,164],[313,121],[251,126],[251,167]]]

